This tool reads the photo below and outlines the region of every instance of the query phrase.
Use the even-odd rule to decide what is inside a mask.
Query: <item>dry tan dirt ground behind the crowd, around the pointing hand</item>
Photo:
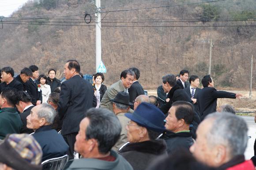
[[[249,91],[225,90],[227,92],[241,93],[243,97],[239,99],[218,99],[217,108],[219,106],[230,104],[236,111],[256,111],[256,91],[252,92],[252,99],[249,100]],[[148,90],[148,96],[157,96],[156,90]]]

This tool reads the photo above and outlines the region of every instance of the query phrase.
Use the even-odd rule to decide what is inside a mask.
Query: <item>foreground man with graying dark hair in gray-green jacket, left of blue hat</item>
[[[133,170],[111,150],[120,137],[121,125],[116,115],[103,108],[91,108],[80,122],[75,151],[83,156],[68,162],[68,170]]]

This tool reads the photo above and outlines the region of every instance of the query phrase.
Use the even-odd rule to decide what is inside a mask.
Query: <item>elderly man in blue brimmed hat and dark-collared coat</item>
[[[134,170],[145,170],[149,163],[160,156],[167,156],[166,142],[155,140],[165,130],[165,116],[156,106],[141,103],[133,114],[125,113],[127,118],[127,144],[119,153]]]

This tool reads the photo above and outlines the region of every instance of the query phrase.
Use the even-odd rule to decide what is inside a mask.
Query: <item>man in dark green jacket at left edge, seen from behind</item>
[[[4,88],[0,94],[0,139],[8,133],[20,133],[23,123],[16,111],[17,90]]]

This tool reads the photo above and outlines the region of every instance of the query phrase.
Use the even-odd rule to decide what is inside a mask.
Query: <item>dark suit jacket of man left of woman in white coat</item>
[[[40,100],[42,102],[42,91],[40,89],[40,92],[38,92],[38,81],[36,80],[36,83],[30,78],[26,83],[26,92],[30,95],[32,99],[32,104],[36,105],[37,100]]]

